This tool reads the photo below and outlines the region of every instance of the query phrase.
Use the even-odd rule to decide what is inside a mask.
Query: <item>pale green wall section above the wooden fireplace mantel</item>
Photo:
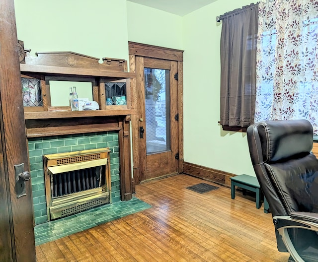
[[[126,0],[14,0],[18,39],[31,55],[73,51],[128,59]]]

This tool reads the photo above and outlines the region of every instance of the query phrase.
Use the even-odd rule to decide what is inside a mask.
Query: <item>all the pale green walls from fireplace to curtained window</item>
[[[246,134],[220,120],[220,35],[216,16],[252,0],[218,0],[183,17],[126,0],[15,0],[18,39],[37,51],[128,60],[128,41],[184,50],[184,160],[254,174]]]

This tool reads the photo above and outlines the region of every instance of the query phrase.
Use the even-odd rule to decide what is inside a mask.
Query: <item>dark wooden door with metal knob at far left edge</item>
[[[0,0],[0,261],[35,262],[31,181],[15,175],[29,170],[16,44],[13,0]]]

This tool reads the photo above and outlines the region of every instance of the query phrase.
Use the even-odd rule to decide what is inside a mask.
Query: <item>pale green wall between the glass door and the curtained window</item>
[[[246,133],[222,131],[220,121],[220,37],[216,16],[251,0],[218,0],[183,16],[184,161],[255,175]]]

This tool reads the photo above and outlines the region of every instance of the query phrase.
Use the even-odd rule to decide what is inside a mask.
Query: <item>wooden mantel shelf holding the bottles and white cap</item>
[[[96,110],[96,111],[41,111],[24,112],[24,118],[28,119],[59,119],[59,118],[83,118],[83,117],[106,117],[125,116],[136,114],[132,109]]]

